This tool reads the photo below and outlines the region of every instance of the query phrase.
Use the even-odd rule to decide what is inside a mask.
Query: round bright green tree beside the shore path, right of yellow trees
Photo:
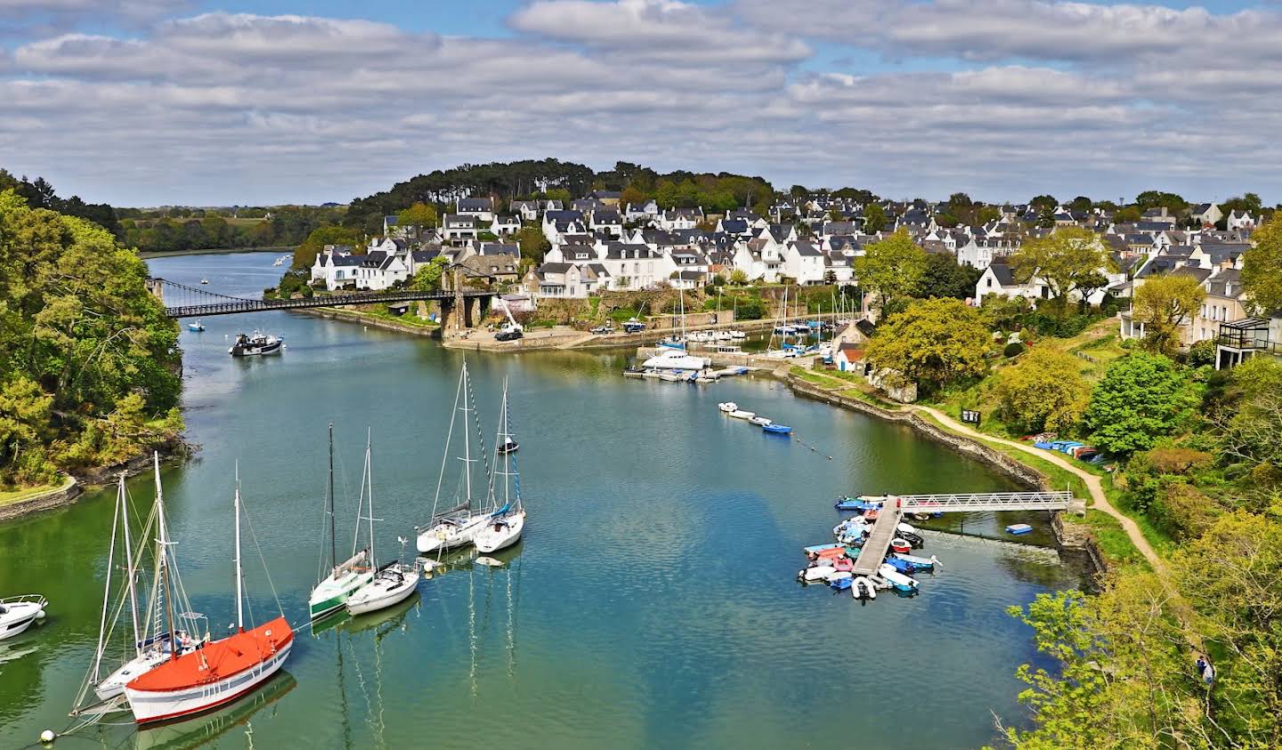
[[[1114,360],[1096,383],[1085,424],[1100,450],[1129,455],[1170,436],[1196,403],[1192,383],[1173,362],[1136,351]]]

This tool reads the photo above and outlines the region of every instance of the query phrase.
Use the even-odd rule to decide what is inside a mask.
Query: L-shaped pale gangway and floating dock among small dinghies
[[[1067,510],[1069,491],[1053,492],[945,492],[940,495],[887,495],[868,540],[855,560],[855,576],[870,576],[881,567],[905,513],[973,513],[981,510]]]

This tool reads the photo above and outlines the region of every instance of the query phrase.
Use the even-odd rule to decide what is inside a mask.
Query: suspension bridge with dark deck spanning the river
[[[410,303],[435,300],[444,308],[458,303],[470,318],[473,301],[485,304],[495,296],[491,290],[456,291],[412,291],[397,290],[387,292],[344,292],[336,295],[313,295],[294,300],[253,300],[204,290],[195,286],[176,283],[164,278],[149,278],[147,288],[165,305],[165,315],[171,318],[209,318],[213,315],[236,315],[240,313],[260,313],[264,310],[300,310],[305,308],[337,308],[342,305],[370,305],[388,303]],[[470,324],[470,322],[468,323]]]

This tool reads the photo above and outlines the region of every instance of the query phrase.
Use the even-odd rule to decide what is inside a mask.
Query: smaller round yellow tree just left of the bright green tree
[[[1082,360],[1063,351],[1035,347],[997,373],[1001,415],[1020,431],[1069,431],[1077,426],[1091,397],[1082,377]]]

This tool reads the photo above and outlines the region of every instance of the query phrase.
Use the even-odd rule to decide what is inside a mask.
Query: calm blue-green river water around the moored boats
[[[273,259],[151,267],[245,294],[276,278]],[[351,533],[344,499],[373,427],[378,544],[395,553],[396,536],[412,536],[431,509],[463,358],[426,338],[300,314],[205,324],[182,335],[188,437],[201,450],[163,473],[183,579],[221,632],[235,613],[238,459],[254,612],[276,609],[256,538],[296,622],[320,549],[326,424],[338,447],[340,535]],[[227,337],[253,328],[283,335],[287,351],[232,360]],[[1011,674],[1032,647],[1004,609],[1076,583],[1053,551],[931,537],[926,554],[938,554],[944,572],[924,577],[914,599],[867,606],[794,581],[800,547],[828,541],[838,492],[1011,488],[1008,479],[765,378],[706,388],[626,381],[622,356],[599,353],[468,363],[487,440],[501,378],[512,379],[531,515],[523,544],[500,555],[506,568],[460,565],[396,610],[301,633],[287,674],[228,710],[81,736],[106,747],[910,750],[978,746],[992,737],[990,712],[1019,722]],[[792,424],[800,441],[724,418],[715,404],[727,399]],[[131,495],[145,505],[150,482],[132,482]],[[68,726],[97,632],[113,496],[0,527],[0,591],[51,603],[42,628],[0,644],[0,746]]]

